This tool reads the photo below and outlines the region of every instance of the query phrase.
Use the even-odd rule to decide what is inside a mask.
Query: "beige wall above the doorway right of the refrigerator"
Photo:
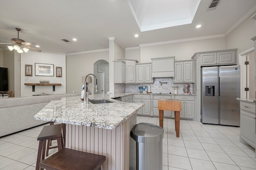
[[[226,36],[226,48],[238,48],[238,54],[246,51],[247,49],[254,47],[254,42],[251,38],[256,36],[255,20],[251,17],[246,18],[241,24],[239,24],[232,32]]]

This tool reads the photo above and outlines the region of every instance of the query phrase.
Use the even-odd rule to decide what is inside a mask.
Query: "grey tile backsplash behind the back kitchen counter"
[[[160,81],[167,82],[167,84],[161,85]],[[173,86],[178,86],[178,93],[183,93],[185,84],[190,85],[190,93],[193,93],[193,83],[173,83],[172,77],[154,78],[153,83],[125,84],[125,92],[136,93],[138,92],[138,86],[147,85],[150,86],[152,93],[174,93]]]

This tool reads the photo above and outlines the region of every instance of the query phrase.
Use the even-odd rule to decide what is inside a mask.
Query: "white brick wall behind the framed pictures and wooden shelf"
[[[54,76],[36,76],[35,63],[53,64]],[[21,96],[46,94],[64,94],[66,93],[66,55],[43,53],[28,51],[21,54],[20,67],[20,87]],[[25,65],[32,65],[32,76],[25,76]],[[62,67],[62,77],[56,77],[56,67]],[[32,86],[24,85],[24,83],[40,83],[41,79],[49,80],[49,83],[61,83],[60,86],[55,86],[55,91],[52,91],[52,86],[35,86],[35,91],[32,92]]]

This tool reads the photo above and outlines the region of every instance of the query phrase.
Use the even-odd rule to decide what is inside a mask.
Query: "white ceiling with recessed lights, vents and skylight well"
[[[180,0],[172,1],[175,3],[157,1],[156,9],[147,8],[152,9],[151,16],[148,16],[153,20],[163,9],[168,11],[166,6],[170,6],[172,14],[166,14],[167,18],[170,15],[180,18],[180,12],[184,11],[182,4]],[[182,3],[186,1],[182,0]],[[42,52],[76,53],[106,49],[109,37],[115,37],[129,49],[156,42],[224,36],[256,10],[256,0],[220,0],[215,10],[207,10],[212,0],[190,1],[194,2],[194,7],[200,2],[191,24],[141,32],[129,6],[134,0],[1,0],[0,39],[10,41],[17,38],[15,28],[21,28],[19,38],[37,43]],[[134,4],[136,12],[145,9],[143,3]],[[193,11],[190,13],[193,16]],[[202,25],[199,29],[196,28],[198,24]],[[139,37],[135,38],[134,34]],[[77,38],[77,41],[73,42],[72,38]],[[0,48],[6,47],[0,45]]]

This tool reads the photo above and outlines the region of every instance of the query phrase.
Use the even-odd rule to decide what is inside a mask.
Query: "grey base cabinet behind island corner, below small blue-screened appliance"
[[[137,111],[138,115],[151,115],[150,95],[134,95],[134,103],[144,103],[145,105]]]

